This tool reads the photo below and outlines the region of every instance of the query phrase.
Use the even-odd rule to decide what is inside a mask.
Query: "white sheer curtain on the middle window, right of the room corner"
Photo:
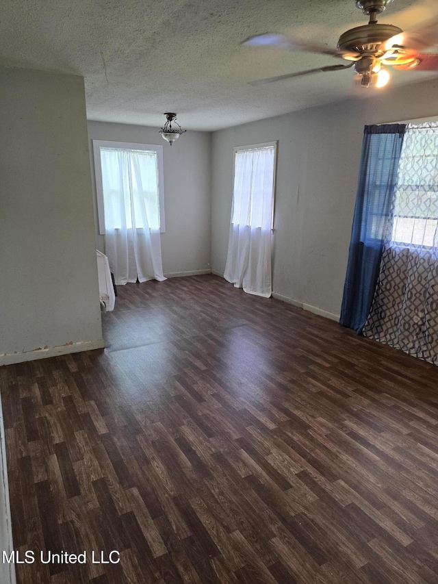
[[[224,278],[248,294],[269,298],[274,146],[235,155],[233,207]]]

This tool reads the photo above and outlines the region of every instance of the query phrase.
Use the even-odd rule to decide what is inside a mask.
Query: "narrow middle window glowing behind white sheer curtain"
[[[235,148],[233,225],[272,229],[276,142]]]

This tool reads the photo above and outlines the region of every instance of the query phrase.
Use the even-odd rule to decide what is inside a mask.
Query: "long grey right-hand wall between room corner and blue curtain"
[[[214,132],[212,270],[222,274],[227,259],[233,147],[278,140],[273,290],[339,315],[363,126],[438,118],[437,87],[426,81]]]

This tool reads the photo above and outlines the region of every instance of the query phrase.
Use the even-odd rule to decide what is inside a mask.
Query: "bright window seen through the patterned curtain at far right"
[[[395,192],[392,240],[434,246],[438,227],[438,127],[404,136]]]

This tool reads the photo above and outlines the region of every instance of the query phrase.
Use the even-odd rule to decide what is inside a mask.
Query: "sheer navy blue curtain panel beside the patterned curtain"
[[[383,243],[391,227],[391,206],[405,124],[365,126],[355,216],[342,299],[344,327],[361,334],[376,290]]]

